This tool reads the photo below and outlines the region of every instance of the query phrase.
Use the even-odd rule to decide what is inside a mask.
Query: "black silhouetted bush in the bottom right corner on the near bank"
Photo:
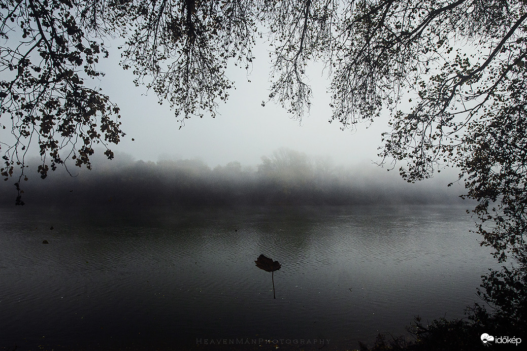
[[[480,342],[484,332],[494,337],[508,336],[525,340],[527,335],[527,267],[520,262],[515,267],[490,269],[483,276],[478,295],[489,307],[474,304],[465,310],[465,318],[435,319],[427,325],[416,317],[408,327],[412,338],[379,335],[372,347],[359,343],[362,351],[380,350],[485,350],[489,345]],[[493,344],[493,343],[490,343]],[[496,345],[492,345],[496,346]],[[499,345],[507,348],[507,345]],[[511,345],[516,348],[515,344]]]

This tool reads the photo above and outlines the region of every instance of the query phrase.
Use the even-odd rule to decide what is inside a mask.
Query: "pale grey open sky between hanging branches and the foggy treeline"
[[[342,131],[338,122],[330,124],[332,112],[326,93],[329,81],[317,67],[312,67],[310,74],[311,111],[301,123],[274,102],[261,105],[269,95],[270,59],[267,48],[260,45],[255,49],[249,77],[240,68],[228,73],[236,82],[236,90],[231,89],[227,103],[219,106],[217,117],[190,118],[179,129],[178,118],[169,104],[159,105],[153,91],[135,87],[132,73],[119,66],[116,46],[109,48],[110,57],[99,66],[106,73],[99,84],[121,108],[126,136],[111,146],[117,153],[154,162],[161,158],[200,158],[211,167],[231,161],[253,166],[260,163],[262,156],[287,147],[310,156],[329,156],[339,165],[378,161],[377,146],[380,134],[387,130],[387,120],[378,120],[368,128],[360,124],[357,132]]]

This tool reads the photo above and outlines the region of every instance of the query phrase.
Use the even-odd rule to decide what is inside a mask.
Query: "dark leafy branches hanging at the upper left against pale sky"
[[[93,145],[116,144],[120,129],[119,107],[108,96],[85,84],[96,78],[100,56],[108,56],[101,39],[102,21],[118,18],[104,12],[103,2],[38,0],[0,2],[0,128],[8,130],[3,149],[5,180],[18,180],[17,204],[23,204],[20,182],[25,179],[25,155],[38,143],[42,178],[67,159],[90,168]],[[8,118],[9,119],[6,119]],[[113,158],[106,148],[104,154]]]

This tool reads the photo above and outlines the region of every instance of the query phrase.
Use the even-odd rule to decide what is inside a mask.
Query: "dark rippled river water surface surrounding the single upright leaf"
[[[0,346],[22,349],[207,338],[357,347],[404,333],[415,315],[462,317],[493,263],[459,207],[0,214]],[[276,299],[255,268],[261,253],[282,265]]]

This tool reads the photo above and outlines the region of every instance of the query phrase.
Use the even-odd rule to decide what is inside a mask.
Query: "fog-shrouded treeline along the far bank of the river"
[[[289,148],[261,156],[257,165],[209,166],[199,158],[169,156],[157,162],[134,161],[128,154],[117,154],[113,161],[94,157],[91,171],[72,164],[70,173],[58,168],[45,179],[28,174],[21,183],[23,201],[27,206],[454,204],[463,190],[447,186],[457,179],[455,172],[408,184],[396,169],[345,166]],[[34,162],[28,169],[36,170]],[[4,204],[14,203],[12,182],[2,182],[0,193]]]

